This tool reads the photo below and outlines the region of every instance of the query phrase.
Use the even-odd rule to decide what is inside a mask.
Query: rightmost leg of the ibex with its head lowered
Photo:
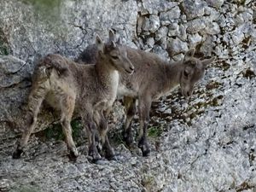
[[[140,133],[138,147],[141,148],[143,156],[148,156],[150,148],[148,145],[147,131],[149,122],[149,110],[151,108],[152,100],[150,97],[139,97],[138,111],[140,118]]]

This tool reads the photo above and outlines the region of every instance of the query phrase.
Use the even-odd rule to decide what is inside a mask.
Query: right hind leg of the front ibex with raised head
[[[67,143],[69,158],[71,160],[76,160],[76,158],[79,156],[79,152],[75,146],[75,143],[73,142],[72,127],[70,125],[74,106],[75,99],[71,96],[67,96],[65,99],[63,99],[63,101],[61,101],[61,127],[65,135],[65,142]]]

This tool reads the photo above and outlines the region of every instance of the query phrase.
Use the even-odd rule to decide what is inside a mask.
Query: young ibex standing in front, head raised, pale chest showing
[[[113,148],[108,142],[108,124],[103,113],[112,107],[117,94],[119,72],[133,73],[134,67],[125,49],[113,41],[104,44],[96,36],[97,59],[94,65],[80,65],[61,55],[47,55],[35,71],[32,91],[29,95],[25,128],[13,158],[20,158],[36,125],[39,108],[45,100],[61,111],[61,126],[66,137],[70,158],[79,155],[73,142],[70,121],[74,109],[79,113],[89,137],[89,155],[98,160],[96,125],[101,127],[100,137],[106,149],[106,158],[112,158]]]

